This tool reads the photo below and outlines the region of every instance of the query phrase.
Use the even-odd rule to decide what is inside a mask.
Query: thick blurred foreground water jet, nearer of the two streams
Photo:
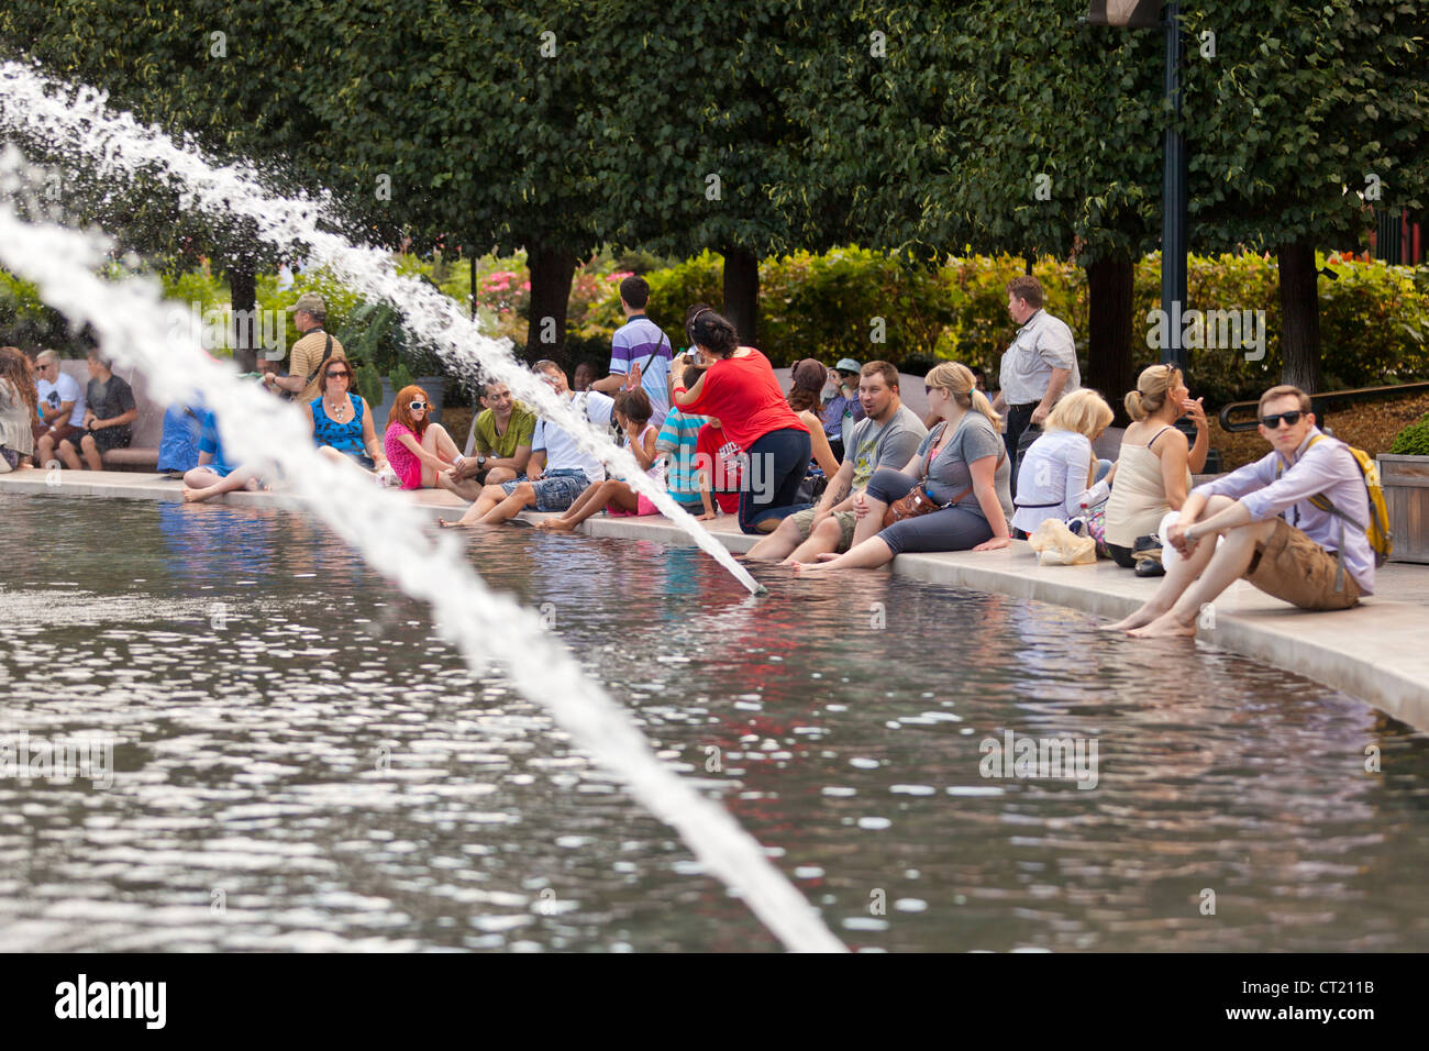
[[[93,326],[116,359],[140,367],[159,400],[201,392],[237,462],[277,462],[293,488],[344,541],[402,588],[432,603],[433,622],[476,671],[499,662],[513,685],[542,704],[576,742],[624,781],[652,812],[673,825],[712,874],[796,951],[842,951],[807,901],[722,806],[660,765],[623,709],[552,641],[530,611],[490,592],[449,536],[370,478],[317,455],[299,413],[254,385],[239,382],[194,342],[176,345],[157,283],[97,277],[110,245],[54,223],[29,223],[40,210],[36,174],[14,147],[0,154],[0,266],[34,282],[47,303]],[[514,386],[514,385],[513,385]],[[562,406],[563,408],[563,406]],[[634,476],[634,472],[632,473]],[[502,639],[500,649],[484,639]],[[512,659],[520,653],[522,659]]]

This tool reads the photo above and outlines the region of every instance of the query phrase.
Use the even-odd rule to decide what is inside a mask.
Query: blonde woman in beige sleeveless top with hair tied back
[[[1206,466],[1206,410],[1200,403],[1200,398],[1192,400],[1173,365],[1143,369],[1136,390],[1126,395],[1126,412],[1135,422],[1122,436],[1116,485],[1106,502],[1106,545],[1125,569],[1135,566],[1137,538],[1155,533],[1166,512],[1180,510],[1192,473]],[[1175,426],[1187,415],[1196,425],[1195,445]]]

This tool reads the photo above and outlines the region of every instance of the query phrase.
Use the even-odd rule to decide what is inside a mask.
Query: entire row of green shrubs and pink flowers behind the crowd
[[[1322,277],[1320,343],[1325,389],[1429,379],[1429,266],[1386,266],[1355,257],[1320,257],[1336,275]],[[576,272],[567,319],[572,360],[609,359],[610,337],[622,325],[619,279],[627,260],[597,256]],[[397,257],[399,270],[422,275],[442,290],[469,302],[473,262],[430,262]],[[477,310],[486,329],[520,345],[530,300],[522,256],[474,260]],[[757,343],[776,365],[800,357],[883,357],[912,369],[939,359],[980,365],[996,378],[1003,347],[1015,326],[1007,317],[1007,280],[1025,263],[1012,256],[960,256],[942,266],[905,266],[895,257],[860,247],[815,255],[799,252],[760,263]],[[1033,273],[1046,292],[1047,309],[1065,319],[1086,366],[1087,280],[1076,263],[1042,259]],[[1133,267],[1133,347],[1137,367],[1159,359],[1149,342],[1149,312],[1159,306],[1160,259],[1146,256]],[[683,345],[682,323],[690,303],[723,303],[723,260],[713,252],[646,272],[649,315]],[[1189,297],[1202,310],[1263,312],[1265,355],[1246,347],[1192,349],[1190,386],[1208,405],[1253,398],[1280,375],[1280,305],[1276,263],[1246,253],[1192,256]],[[277,277],[259,275],[257,300],[267,310],[292,306],[302,292],[320,292],[329,306],[327,327],[359,363],[390,375],[406,362],[412,375],[440,370],[430,352],[412,345],[393,310],[359,296],[313,270],[279,292]],[[164,292],[203,309],[227,302],[227,289],[201,272],[164,279]],[[297,339],[287,315],[287,345]],[[34,289],[0,272],[0,336],[20,345],[69,347],[73,337],[63,317],[40,303]],[[1106,392],[1119,399],[1122,392]]]

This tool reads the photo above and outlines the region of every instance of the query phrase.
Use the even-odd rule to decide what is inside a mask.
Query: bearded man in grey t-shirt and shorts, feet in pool
[[[902,470],[913,459],[927,428],[899,398],[897,369],[869,362],[859,373],[859,403],[865,418],[849,435],[839,473],[829,479],[819,503],[789,515],[779,528],[749,549],[760,562],[815,562],[825,552],[842,553],[853,542],[853,493],[879,468]]]

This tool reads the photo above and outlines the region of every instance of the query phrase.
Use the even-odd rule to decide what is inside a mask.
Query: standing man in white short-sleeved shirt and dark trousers
[[[1066,322],[1042,309],[1042,282],[1029,275],[1007,282],[1007,313],[1022,327],[1002,356],[1002,390],[993,412],[1006,410],[1012,495],[1017,495],[1017,442],[1029,426],[1042,428],[1062,395],[1082,386],[1076,342]]]

